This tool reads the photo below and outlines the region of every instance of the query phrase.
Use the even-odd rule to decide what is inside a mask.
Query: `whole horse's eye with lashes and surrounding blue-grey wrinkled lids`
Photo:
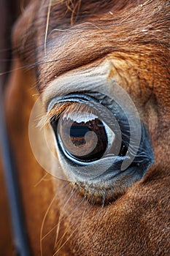
[[[122,195],[153,162],[147,131],[132,113],[96,92],[66,94],[49,103],[60,170],[82,195],[90,199],[94,193],[97,203]]]

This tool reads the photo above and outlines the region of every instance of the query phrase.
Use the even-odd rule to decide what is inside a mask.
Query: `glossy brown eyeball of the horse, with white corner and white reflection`
[[[100,159],[115,141],[115,132],[90,108],[74,112],[68,108],[58,120],[57,133],[65,154],[80,162]]]

